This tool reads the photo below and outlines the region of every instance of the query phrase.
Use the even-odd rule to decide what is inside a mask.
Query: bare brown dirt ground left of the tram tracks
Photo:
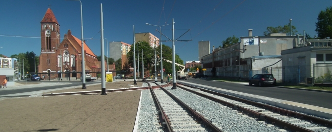
[[[137,82],[136,86],[142,86]],[[133,87],[133,82],[106,83],[107,89]],[[101,90],[71,88],[51,93]],[[0,98],[0,132],[132,132],[141,90],[107,95]]]

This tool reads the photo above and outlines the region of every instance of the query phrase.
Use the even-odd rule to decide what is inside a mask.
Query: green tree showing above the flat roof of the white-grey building
[[[284,25],[284,27],[267,27],[267,31],[264,31],[264,36],[269,36],[271,33],[286,33],[290,35],[290,24]],[[291,35],[295,35],[297,33],[296,27],[291,25]]]

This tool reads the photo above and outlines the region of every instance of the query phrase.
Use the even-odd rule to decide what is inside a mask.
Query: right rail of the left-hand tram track
[[[166,90],[163,87],[160,87],[160,89],[162,89],[168,96],[170,96],[172,99],[174,99],[176,102],[180,103],[182,106],[184,106],[187,110],[188,113],[190,113],[190,115],[192,115],[197,121],[202,122],[203,124],[207,125],[207,127],[209,129],[212,130],[212,132],[223,132],[222,130],[220,130],[217,126],[215,126],[214,124],[212,124],[212,122],[210,120],[208,120],[207,118],[205,118],[203,115],[199,114],[198,112],[196,112],[196,110],[190,108],[186,103],[182,102],[180,99],[178,99],[177,97],[175,97],[173,94],[171,94],[168,90]]]

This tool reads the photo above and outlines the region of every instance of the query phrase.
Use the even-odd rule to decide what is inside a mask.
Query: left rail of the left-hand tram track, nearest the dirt
[[[158,115],[162,115],[162,116],[159,116],[159,121],[162,123],[162,126],[164,128],[166,128],[166,132],[173,132],[173,129],[170,127],[170,122],[169,122],[162,106],[160,105],[159,100],[157,99],[157,96],[156,96],[156,94],[154,93],[154,91],[152,89],[152,86],[150,85],[150,83],[147,83],[147,84],[149,85],[149,87],[151,87],[150,92],[151,92],[151,95],[152,95],[152,98],[153,98],[154,102],[157,104]]]

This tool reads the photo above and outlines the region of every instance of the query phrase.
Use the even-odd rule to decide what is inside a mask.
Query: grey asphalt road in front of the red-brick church
[[[11,89],[11,90],[2,90],[0,92],[0,96],[3,95],[10,95],[10,94],[19,94],[19,93],[25,93],[25,92],[33,92],[33,91],[40,91],[40,90],[49,90],[49,89],[56,89],[56,88],[62,88],[62,87],[70,87],[70,86],[81,86],[82,87],[82,82],[80,81],[41,81],[43,83],[55,83],[55,82],[70,82],[71,84],[66,84],[66,85],[45,85],[42,87],[31,87],[29,88],[21,88],[21,89]],[[29,83],[29,82],[28,82]],[[93,84],[93,83],[101,83],[100,81],[94,81],[94,82],[85,82],[85,84]],[[10,96],[12,97],[12,96]],[[15,96],[15,97],[25,97],[25,96]]]

